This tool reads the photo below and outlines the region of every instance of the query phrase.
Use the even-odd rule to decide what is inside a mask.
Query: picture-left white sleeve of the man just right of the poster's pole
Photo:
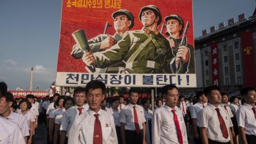
[[[155,111],[156,112],[156,111]],[[152,143],[160,143],[161,141],[161,125],[162,118],[158,113],[154,113],[152,122]]]

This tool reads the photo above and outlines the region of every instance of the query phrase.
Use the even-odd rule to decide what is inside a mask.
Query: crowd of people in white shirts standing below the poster
[[[14,99],[0,82],[0,143],[33,143],[37,124],[47,127],[47,143],[256,143],[256,90],[244,87],[229,96],[218,86],[185,98],[175,85],[162,87],[161,98],[139,98],[131,88],[105,97],[106,85],[91,81],[76,87],[73,98]],[[232,94],[234,94],[232,92]],[[191,96],[191,95],[190,95]],[[154,111],[152,111],[154,110]],[[187,130],[189,129],[189,130]]]

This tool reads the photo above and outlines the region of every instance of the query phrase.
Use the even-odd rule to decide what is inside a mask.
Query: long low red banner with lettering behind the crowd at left
[[[46,97],[47,91],[9,91],[13,94],[13,98],[25,98],[27,94],[33,94],[35,97]]]

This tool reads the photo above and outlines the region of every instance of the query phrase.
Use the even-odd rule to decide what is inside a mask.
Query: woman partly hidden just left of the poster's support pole
[[[150,144],[151,140],[152,140],[152,137],[151,137],[151,119],[152,119],[152,116],[153,116],[153,111],[149,109],[149,107],[151,105],[150,99],[149,98],[141,99],[141,105],[144,109],[144,114],[145,114],[145,119],[146,119],[146,142],[147,142],[147,144]]]

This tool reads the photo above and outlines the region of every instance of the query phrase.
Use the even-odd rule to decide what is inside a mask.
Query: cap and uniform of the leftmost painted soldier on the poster
[[[128,20],[131,20],[131,25],[130,28],[134,26],[134,17],[131,12],[127,10],[118,10],[112,14],[113,19],[115,19],[118,15],[124,14],[127,16]],[[101,42],[109,37],[110,35],[107,34],[100,34],[88,41],[89,46],[90,46],[90,51],[95,53],[95,52],[100,52],[103,51],[100,49],[100,44]],[[112,36],[115,39],[115,42],[119,42],[122,39],[122,36],[120,36],[118,33],[116,33],[114,36]],[[77,45],[73,46],[73,50],[71,52],[71,55],[75,59],[81,59],[83,57],[83,52]],[[99,73],[118,73],[118,71],[122,70],[125,67],[125,64],[123,62],[119,63],[114,63],[113,65],[100,69]]]

